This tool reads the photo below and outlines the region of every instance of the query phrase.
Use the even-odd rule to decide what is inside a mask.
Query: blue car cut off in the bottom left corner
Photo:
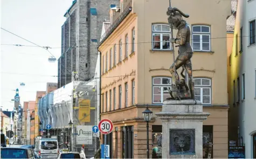
[[[1,148],[1,158],[31,158],[34,159],[33,149],[30,148],[17,148],[17,147],[4,147]]]

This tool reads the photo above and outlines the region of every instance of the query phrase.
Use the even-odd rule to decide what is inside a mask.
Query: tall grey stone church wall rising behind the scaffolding
[[[65,13],[67,18],[61,27],[61,57],[58,59],[58,88],[72,82],[72,71],[78,81],[94,77],[102,22],[109,19],[110,4],[118,0],[73,1]]]

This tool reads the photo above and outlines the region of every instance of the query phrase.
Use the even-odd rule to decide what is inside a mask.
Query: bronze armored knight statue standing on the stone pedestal
[[[171,95],[170,99],[195,99],[191,63],[191,57],[193,55],[193,50],[190,45],[191,31],[186,21],[182,19],[182,16],[188,18],[189,15],[185,15],[181,10],[171,7],[168,8],[167,15],[169,16],[168,22],[171,28],[173,27],[178,30],[176,38],[171,38],[170,42],[172,42],[172,46],[174,46],[173,44],[178,44],[179,47],[178,56],[169,69],[175,83],[172,84],[172,89],[169,91]],[[181,76],[184,79],[180,79],[176,71],[181,67]],[[188,80],[186,80],[185,75],[183,74],[184,70],[188,75]]]

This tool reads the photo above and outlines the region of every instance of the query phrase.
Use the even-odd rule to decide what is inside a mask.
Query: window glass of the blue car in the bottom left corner
[[[27,158],[24,149],[1,149],[1,158]]]

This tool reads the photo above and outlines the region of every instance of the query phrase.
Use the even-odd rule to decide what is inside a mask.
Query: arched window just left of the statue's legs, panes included
[[[153,77],[153,103],[163,103],[170,97],[171,82],[171,77]]]

